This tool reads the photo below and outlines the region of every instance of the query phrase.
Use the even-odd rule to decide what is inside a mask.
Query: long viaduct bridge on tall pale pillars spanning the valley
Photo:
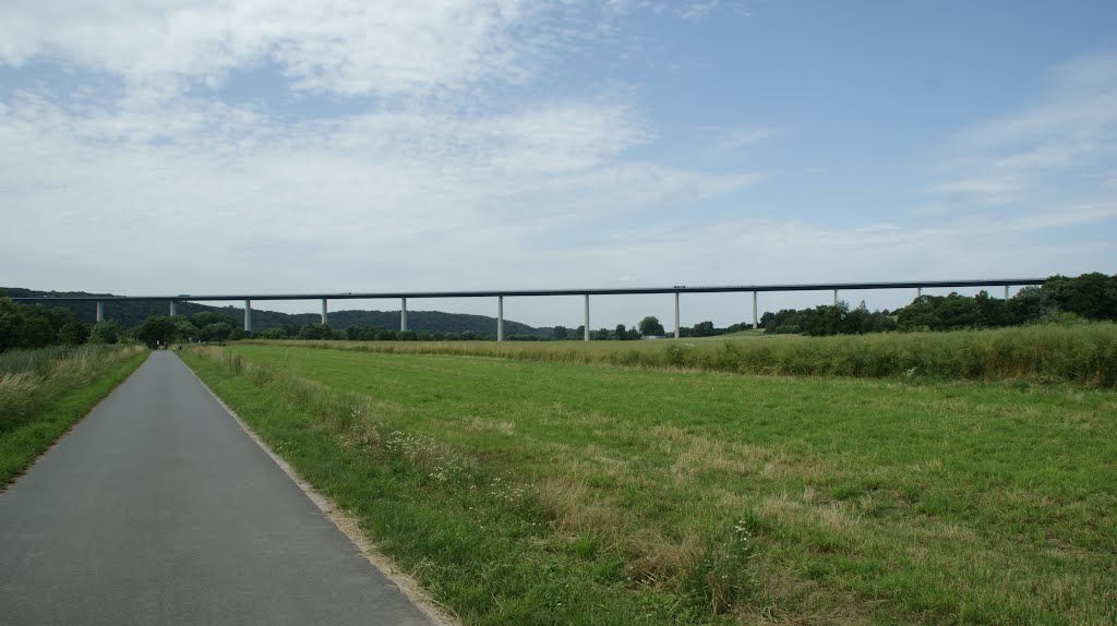
[[[838,304],[839,291],[857,290],[882,290],[882,289],[915,289],[918,295],[924,289],[951,288],[951,287],[1003,287],[1004,298],[1009,298],[1010,287],[1023,287],[1043,285],[1043,278],[1010,278],[1010,279],[981,279],[981,280],[924,280],[924,281],[900,281],[900,282],[833,282],[814,285],[739,285],[722,287],[686,287],[677,285],[675,287],[637,287],[628,289],[512,289],[503,291],[400,291],[400,292],[374,292],[374,293],[257,293],[257,295],[191,295],[180,293],[178,296],[38,296],[12,298],[12,300],[25,302],[96,302],[97,321],[105,319],[105,302],[157,302],[170,304],[170,315],[175,315],[178,302],[213,302],[213,301],[244,301],[245,302],[245,331],[252,330],[252,301],[261,300],[321,300],[322,301],[322,324],[328,319],[327,302],[330,300],[400,300],[400,330],[408,329],[408,299],[422,298],[496,298],[497,300],[497,322],[496,336],[498,341],[504,340],[504,299],[515,297],[540,297],[540,296],[583,296],[585,298],[585,336],[590,340],[590,296],[633,296],[649,293],[668,293],[675,296],[675,337],[679,337],[679,296],[682,293],[739,293],[752,292],[753,295],[753,328],[758,326],[757,317],[757,295],[762,292],[790,292],[790,291],[833,291],[834,305]]]

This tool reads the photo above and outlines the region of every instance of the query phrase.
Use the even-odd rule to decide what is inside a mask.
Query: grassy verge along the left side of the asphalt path
[[[140,346],[0,354],[0,488],[127,378],[146,355]]]

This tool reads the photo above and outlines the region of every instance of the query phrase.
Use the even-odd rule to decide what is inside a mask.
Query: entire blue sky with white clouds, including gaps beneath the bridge
[[[0,285],[1111,275],[1114,25],[1111,0],[4,0]],[[681,322],[751,309],[689,296]],[[671,311],[666,295],[601,297],[591,326]],[[512,298],[505,315],[576,327],[582,302]]]

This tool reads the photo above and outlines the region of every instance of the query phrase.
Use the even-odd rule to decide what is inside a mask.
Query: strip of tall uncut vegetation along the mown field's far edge
[[[655,341],[265,343],[777,376],[904,376],[1117,385],[1117,324],[1111,322],[818,338],[744,335]]]

